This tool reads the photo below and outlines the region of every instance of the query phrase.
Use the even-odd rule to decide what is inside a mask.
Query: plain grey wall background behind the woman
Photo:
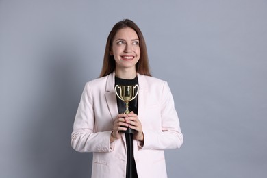
[[[90,177],[71,148],[86,81],[123,18],[168,81],[185,142],[169,177],[266,177],[267,1],[0,1],[0,177]]]

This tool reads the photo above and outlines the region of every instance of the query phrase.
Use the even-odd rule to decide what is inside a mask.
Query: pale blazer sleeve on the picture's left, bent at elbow
[[[112,131],[94,132],[94,103],[90,84],[86,83],[75,116],[71,146],[79,152],[111,152]]]

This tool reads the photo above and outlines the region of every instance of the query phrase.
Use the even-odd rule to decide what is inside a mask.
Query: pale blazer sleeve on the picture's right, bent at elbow
[[[173,95],[167,82],[161,94],[161,130],[145,129],[142,149],[177,149],[183,144],[183,134],[179,124],[179,118],[175,110]]]

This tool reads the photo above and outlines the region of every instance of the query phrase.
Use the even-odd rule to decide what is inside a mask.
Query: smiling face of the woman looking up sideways
[[[139,38],[136,31],[126,27],[117,31],[112,42],[111,55],[114,55],[116,69],[134,69],[140,58]]]

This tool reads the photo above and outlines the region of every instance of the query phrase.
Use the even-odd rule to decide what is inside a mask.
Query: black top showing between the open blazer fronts
[[[115,85],[135,86],[136,84],[138,84],[138,77],[134,79],[120,79],[118,77],[115,77]],[[125,112],[125,102],[117,97],[117,104],[118,113]],[[129,110],[133,111],[135,114],[138,114],[138,96],[129,102]],[[127,146],[126,178],[138,178],[136,172],[136,161],[133,157],[133,133],[125,133],[125,138]]]

